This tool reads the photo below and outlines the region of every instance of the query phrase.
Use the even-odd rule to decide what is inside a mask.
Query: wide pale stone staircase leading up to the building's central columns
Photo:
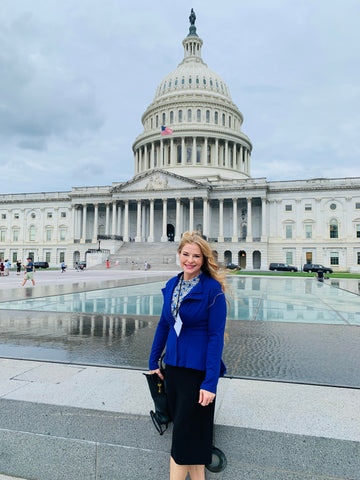
[[[152,270],[176,270],[177,244],[173,242],[128,242],[117,252],[109,255],[110,268],[120,270],[144,270],[145,262]],[[106,268],[106,262],[92,267],[92,270]]]

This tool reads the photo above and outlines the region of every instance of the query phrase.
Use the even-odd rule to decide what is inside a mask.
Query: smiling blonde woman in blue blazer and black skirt
[[[170,480],[185,480],[187,473],[191,480],[204,480],[204,466],[211,463],[216,387],[226,371],[221,360],[225,277],[197,232],[183,234],[178,254],[182,273],[163,289],[149,368],[163,378],[158,361],[166,346],[166,391],[174,423]]]

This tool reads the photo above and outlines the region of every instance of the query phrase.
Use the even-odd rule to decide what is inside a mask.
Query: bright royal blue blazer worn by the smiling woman
[[[149,369],[159,368],[158,361],[166,345],[164,362],[174,367],[205,372],[201,388],[216,393],[219,377],[226,372],[221,360],[226,322],[226,300],[220,283],[202,273],[200,281],[183,299],[179,314],[183,326],[179,337],[171,313],[171,299],[182,273],[171,278],[162,289],[164,304],[156,329]]]

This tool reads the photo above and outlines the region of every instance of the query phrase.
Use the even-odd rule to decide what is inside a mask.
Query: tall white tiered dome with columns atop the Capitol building
[[[163,169],[201,181],[250,177],[249,138],[224,80],[201,57],[194,21],[182,62],[158,85],[133,144],[135,176]]]

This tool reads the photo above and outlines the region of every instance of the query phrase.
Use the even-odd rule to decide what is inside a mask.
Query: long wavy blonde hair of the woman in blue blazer
[[[203,265],[201,267],[201,270],[209,277],[212,277],[215,280],[217,280],[221,285],[222,291],[225,293],[225,290],[226,290],[225,276],[226,275],[225,275],[225,272],[222,272],[219,269],[219,266],[216,263],[214,254],[208,242],[205,240],[205,238],[201,235],[200,232],[185,232],[181,237],[179,247],[178,247],[178,253],[181,253],[184,246],[187,245],[188,243],[192,245],[197,245],[200,248],[201,253],[203,255]]]

